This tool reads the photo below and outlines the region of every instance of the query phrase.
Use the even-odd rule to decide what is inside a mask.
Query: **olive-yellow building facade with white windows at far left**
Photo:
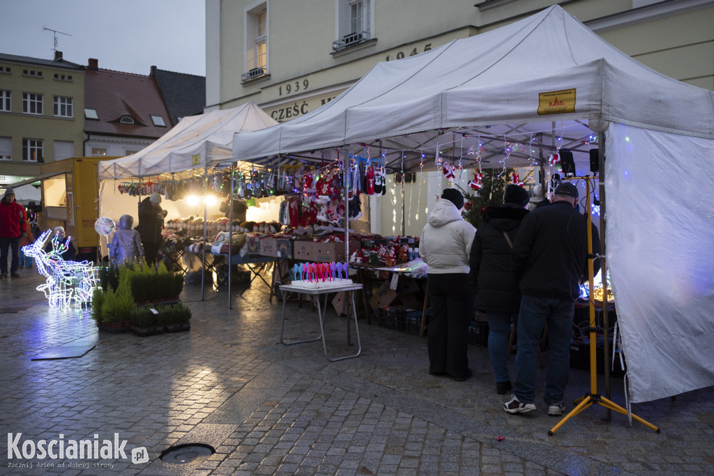
[[[0,54],[0,185],[39,176],[40,164],[81,156],[84,66]]]

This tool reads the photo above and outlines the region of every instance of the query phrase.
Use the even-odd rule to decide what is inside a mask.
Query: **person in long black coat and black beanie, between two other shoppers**
[[[471,245],[468,264],[476,286],[476,309],[488,318],[488,354],[491,355],[496,392],[511,390],[508,375],[508,335],[518,321],[521,291],[511,272],[511,248],[521,221],[528,214],[528,192],[523,187],[506,187],[506,203],[486,208],[483,222]]]

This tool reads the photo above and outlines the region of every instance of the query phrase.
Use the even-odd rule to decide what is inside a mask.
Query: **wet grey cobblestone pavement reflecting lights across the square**
[[[542,402],[526,415],[503,412],[508,395],[496,394],[485,348],[470,347],[474,376],[457,383],[427,374],[426,339],[361,319],[361,355],[331,363],[319,342],[280,343],[283,303],[269,303],[257,282],[242,296],[233,290],[232,310],[227,290],[206,288],[201,301],[200,288],[187,286],[189,332],[109,334],[89,312],[49,309],[34,289],[42,278],[21,273],[0,281],[0,473],[714,474],[713,388],[633,405],[660,433],[616,412],[605,420],[594,405],[548,436],[559,420]],[[309,303],[289,301],[286,314],[286,340],[319,335]],[[326,338],[331,355],[356,352],[331,307]],[[67,345],[95,347],[77,358],[31,360]],[[538,396],[544,378],[540,370]],[[624,406],[623,380],[611,382],[610,400]],[[587,372],[571,370],[568,410],[589,386]],[[127,457],[18,459],[9,433],[22,434],[20,450],[26,440],[61,438],[99,438],[101,446],[116,433]],[[184,443],[216,452],[184,465],[160,459]],[[139,447],[147,462],[131,461]]]

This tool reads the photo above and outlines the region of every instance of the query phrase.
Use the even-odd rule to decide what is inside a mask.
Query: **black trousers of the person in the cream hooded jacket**
[[[473,293],[466,273],[427,276],[431,319],[427,343],[429,370],[452,377],[468,375],[468,325],[473,318]]]

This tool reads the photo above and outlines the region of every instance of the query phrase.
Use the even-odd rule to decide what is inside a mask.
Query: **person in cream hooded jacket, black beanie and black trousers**
[[[473,318],[468,257],[476,234],[476,228],[461,216],[461,208],[461,192],[446,188],[429,213],[419,242],[431,302],[429,375],[448,375],[457,382],[472,375],[467,355]]]

